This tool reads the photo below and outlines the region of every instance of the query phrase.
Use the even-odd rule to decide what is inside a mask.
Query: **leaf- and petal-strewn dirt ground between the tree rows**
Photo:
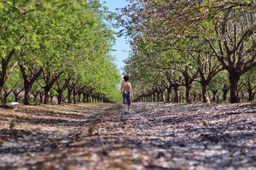
[[[132,108],[0,108],[0,169],[256,169],[256,104]]]

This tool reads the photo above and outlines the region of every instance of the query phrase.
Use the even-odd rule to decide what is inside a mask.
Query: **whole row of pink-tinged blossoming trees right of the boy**
[[[246,94],[253,100],[255,1],[134,0],[117,18],[131,39],[125,73],[132,77],[137,100],[158,96],[163,101],[166,91],[170,101],[173,89],[173,101],[179,102],[180,87],[188,103],[196,98],[209,103],[209,87],[213,100],[220,91],[226,100],[228,90],[231,103]]]

